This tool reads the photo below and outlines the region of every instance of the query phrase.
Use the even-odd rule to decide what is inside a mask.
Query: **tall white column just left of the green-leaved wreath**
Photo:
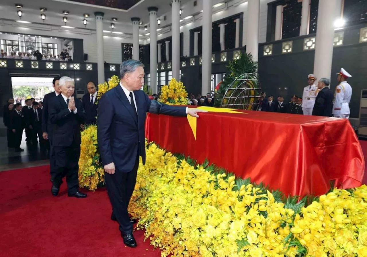
[[[201,94],[210,92],[211,88],[212,9],[212,0],[203,1],[203,63],[201,70]]]

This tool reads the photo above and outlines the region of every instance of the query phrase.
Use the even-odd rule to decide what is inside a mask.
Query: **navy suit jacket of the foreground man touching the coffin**
[[[145,164],[146,113],[186,116],[186,107],[174,107],[150,100],[143,90],[134,91],[138,116],[120,85],[99,100],[97,137],[103,165],[115,163],[117,170],[130,172],[137,154]]]

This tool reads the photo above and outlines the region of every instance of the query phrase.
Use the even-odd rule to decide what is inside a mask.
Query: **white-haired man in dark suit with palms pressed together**
[[[66,176],[68,196],[85,198],[87,194],[78,191],[80,124],[85,120],[85,113],[80,101],[73,97],[74,81],[69,77],[62,77],[59,84],[61,94],[48,103],[50,122],[54,126],[51,145],[56,160],[51,193],[58,195],[62,178]]]

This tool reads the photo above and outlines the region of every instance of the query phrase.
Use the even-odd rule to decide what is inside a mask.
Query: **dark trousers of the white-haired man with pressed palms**
[[[68,193],[75,194],[79,186],[78,162],[80,144],[73,141],[73,144],[70,146],[53,146],[52,151],[55,158],[55,174],[52,183],[54,186],[59,187],[62,183],[62,178],[66,176]]]

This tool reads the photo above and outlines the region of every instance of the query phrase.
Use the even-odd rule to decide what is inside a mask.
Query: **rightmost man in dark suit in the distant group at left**
[[[33,108],[28,110],[28,115],[26,117],[27,129],[31,136],[31,142],[33,146],[37,146],[37,135],[40,139],[40,144],[43,142],[42,137],[42,110],[38,107],[38,102],[34,101],[32,103]]]

